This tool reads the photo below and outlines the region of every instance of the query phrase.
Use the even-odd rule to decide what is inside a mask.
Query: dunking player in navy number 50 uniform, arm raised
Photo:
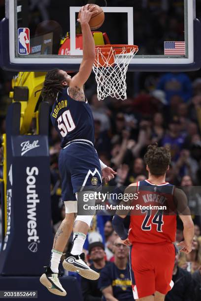
[[[95,214],[77,215],[77,199],[83,191],[96,190],[101,186],[101,177],[105,181],[114,178],[114,172],[99,160],[94,148],[94,120],[84,94],[83,85],[89,78],[95,60],[95,44],[89,20],[97,11],[83,6],[78,21],[82,28],[83,60],[79,72],[70,77],[63,70],[52,70],[45,77],[42,96],[44,100],[53,100],[51,120],[62,138],[62,150],[59,156],[59,171],[62,178],[62,200],[66,206],[66,217],[59,227],[53,243],[50,266],[40,277],[40,282],[56,295],[66,296],[58,278],[58,267],[69,236],[73,230],[73,245],[66,254],[63,267],[67,271],[77,271],[88,279],[98,279],[99,273],[91,270],[84,261],[82,253],[86,235]],[[95,188],[95,189],[93,189]],[[95,199],[88,201],[95,205]],[[74,223],[75,220],[75,223]],[[74,223],[74,227],[73,227]]]

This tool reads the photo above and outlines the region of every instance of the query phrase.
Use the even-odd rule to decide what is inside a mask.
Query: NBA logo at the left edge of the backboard
[[[30,30],[18,28],[18,53],[28,55],[30,53]]]

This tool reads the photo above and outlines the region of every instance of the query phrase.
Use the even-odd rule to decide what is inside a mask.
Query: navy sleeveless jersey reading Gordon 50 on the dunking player
[[[94,144],[94,119],[90,105],[87,100],[72,99],[68,88],[58,94],[50,118],[62,139],[62,148],[75,139],[89,140]]]

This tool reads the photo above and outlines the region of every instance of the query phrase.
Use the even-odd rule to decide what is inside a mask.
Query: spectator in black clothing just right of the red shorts
[[[167,293],[165,301],[195,301],[193,278],[188,271],[178,267],[179,255],[175,257],[172,274],[173,288]]]

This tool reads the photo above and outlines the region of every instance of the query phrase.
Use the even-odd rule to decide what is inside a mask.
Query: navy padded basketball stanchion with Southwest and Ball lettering
[[[48,103],[39,106],[37,135],[20,135],[20,119],[21,103],[14,102],[8,108],[6,141],[3,141],[7,169],[4,179],[7,222],[0,250],[0,288],[21,293],[29,291],[28,296],[37,292],[34,298],[39,301],[47,298],[56,301],[61,297],[48,294],[39,285],[53,242]],[[61,283],[68,288],[68,294],[82,301],[74,277],[61,277]]]

